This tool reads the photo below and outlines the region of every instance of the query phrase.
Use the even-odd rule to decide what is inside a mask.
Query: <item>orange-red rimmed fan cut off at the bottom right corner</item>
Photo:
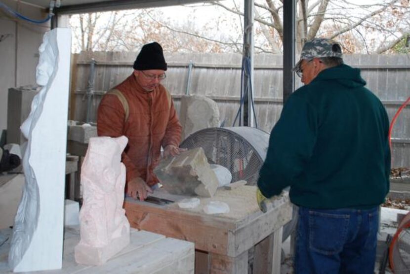
[[[410,273],[410,212],[400,222],[390,243],[389,261],[394,273]]]

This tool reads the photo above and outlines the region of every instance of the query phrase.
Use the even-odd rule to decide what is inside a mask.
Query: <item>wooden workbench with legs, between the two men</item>
[[[282,227],[291,219],[287,193],[271,209],[262,213],[257,205],[255,186],[219,189],[213,198],[201,198],[195,209],[177,203],[158,206],[127,198],[124,203],[131,227],[195,243],[196,274],[246,274],[248,250],[255,246],[253,273],[280,273]],[[166,197],[163,189],[154,196]],[[170,199],[173,200],[173,199]],[[203,206],[222,201],[230,212],[207,215]]]

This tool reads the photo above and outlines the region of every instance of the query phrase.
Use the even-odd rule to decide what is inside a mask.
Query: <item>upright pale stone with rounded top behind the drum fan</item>
[[[182,96],[179,121],[183,128],[182,139],[202,129],[219,127],[218,104],[201,95]]]

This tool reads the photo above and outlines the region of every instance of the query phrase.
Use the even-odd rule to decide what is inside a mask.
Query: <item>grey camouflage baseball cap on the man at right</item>
[[[300,60],[293,67],[293,71],[299,69],[303,59],[323,58],[323,57],[338,57],[342,58],[342,47],[332,39],[315,38],[307,41],[300,53]]]

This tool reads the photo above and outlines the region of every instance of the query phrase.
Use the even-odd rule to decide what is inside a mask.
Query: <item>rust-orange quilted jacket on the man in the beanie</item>
[[[128,117],[125,119],[118,96],[104,95],[98,106],[98,136],[126,136],[128,144],[123,153],[126,181],[139,176],[152,186],[158,183],[153,169],[160,160],[161,146],[179,146],[181,141],[182,127],[174,104],[163,85],[147,92],[133,74],[115,88],[128,103]]]

